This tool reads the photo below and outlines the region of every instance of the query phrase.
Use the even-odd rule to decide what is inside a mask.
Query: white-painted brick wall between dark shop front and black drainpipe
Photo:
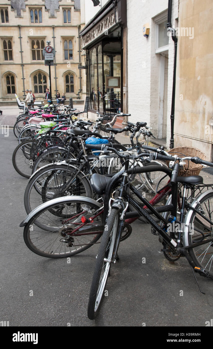
[[[128,113],[129,121],[146,121],[157,135],[159,110],[159,64],[155,54],[156,24],[153,17],[165,11],[168,0],[127,0],[128,30]],[[173,0],[172,25],[178,17],[178,0]],[[148,38],[142,35],[142,26],[150,24]],[[171,123],[171,99],[174,65],[174,43],[169,38],[168,54],[168,102],[167,143],[169,144]]]

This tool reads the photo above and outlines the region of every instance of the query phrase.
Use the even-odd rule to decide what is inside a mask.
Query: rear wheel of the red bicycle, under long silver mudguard
[[[79,199],[73,196],[73,200],[69,199],[68,201],[64,198],[64,200],[58,202],[54,200],[54,203],[52,202],[53,200],[49,201],[46,208],[42,208],[37,214],[33,215],[24,227],[24,242],[32,252],[48,258],[70,257],[87,250],[87,248],[91,247],[101,237],[104,228],[103,214],[101,212],[100,215],[94,218],[94,222],[91,223],[89,221],[83,228],[80,228],[82,225],[81,217],[83,215],[85,218],[89,218],[93,214],[93,211],[95,212],[100,209],[100,206],[97,205],[95,201],[93,203],[88,203],[87,198]],[[63,221],[58,220],[58,216],[54,216],[50,213],[50,211],[56,207],[66,210],[66,214],[70,216],[74,222],[71,223],[70,219],[69,222],[63,224]],[[68,210],[70,214],[68,214]],[[76,215],[78,215],[78,217],[76,217]],[[45,229],[38,227],[37,222],[39,220],[45,220]],[[73,230],[73,228],[79,229],[77,233],[90,232],[90,234],[79,236],[73,234],[72,238],[74,241],[72,241],[72,246],[67,246],[66,244],[68,242],[64,243],[60,240],[65,238],[63,234],[67,234],[68,231]]]

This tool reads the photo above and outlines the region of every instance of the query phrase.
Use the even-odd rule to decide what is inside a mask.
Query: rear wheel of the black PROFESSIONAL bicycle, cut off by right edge
[[[206,194],[199,201],[195,209],[203,210],[203,214],[213,222],[213,192]],[[188,245],[191,245],[192,242],[197,242],[202,237],[202,234],[196,231],[196,229],[202,231],[204,236],[210,231],[213,235],[213,224],[205,221],[194,210],[191,210],[189,214],[191,214],[189,227],[192,229],[188,231]],[[207,277],[213,279],[213,242],[190,248],[188,251],[195,265],[204,268],[208,273]]]

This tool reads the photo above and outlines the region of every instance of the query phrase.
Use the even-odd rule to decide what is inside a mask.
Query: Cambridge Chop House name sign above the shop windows
[[[117,17],[117,11],[116,11],[116,17]],[[89,33],[82,36],[82,48],[84,49],[85,46],[92,43],[95,39],[97,39],[100,35],[105,34],[108,35],[108,29],[113,27],[113,25],[116,24],[118,21],[118,18],[115,18],[115,11],[113,10],[108,14],[103,20],[98,22],[98,24],[90,30]]]

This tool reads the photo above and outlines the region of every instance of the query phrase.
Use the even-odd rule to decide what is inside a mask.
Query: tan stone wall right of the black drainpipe
[[[196,147],[210,161],[213,161],[212,15],[212,0],[180,0],[178,26],[185,32],[178,37],[174,124],[175,146]]]

